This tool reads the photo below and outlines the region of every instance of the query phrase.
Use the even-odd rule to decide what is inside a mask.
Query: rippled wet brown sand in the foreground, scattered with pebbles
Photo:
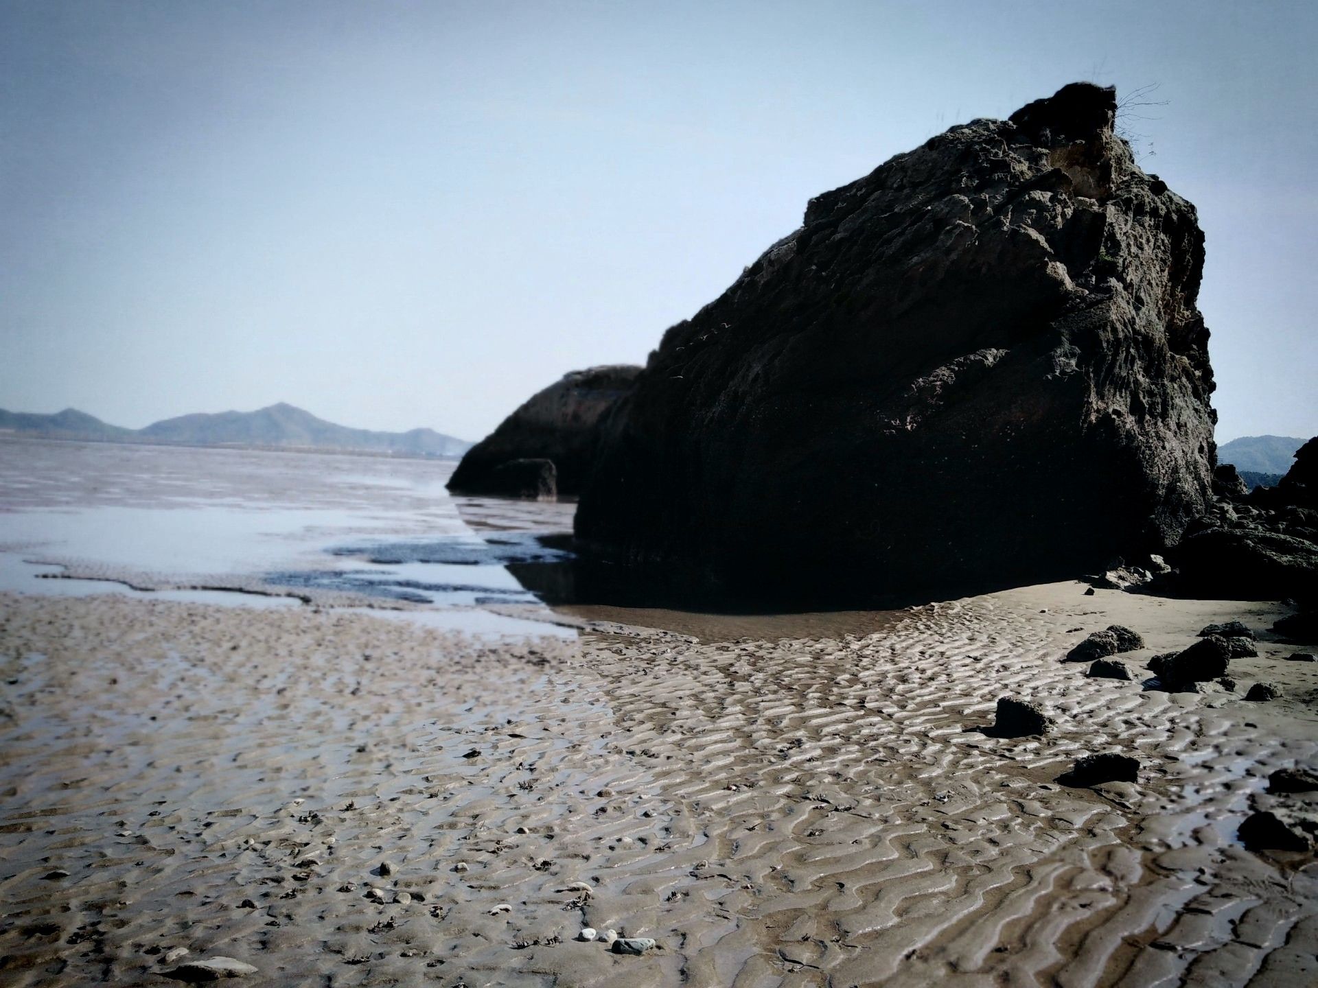
[[[1318,865],[1234,838],[1318,759],[1318,667],[1265,640],[1198,696],[1057,661],[1277,613],[1060,584],[863,638],[496,647],[0,595],[0,981],[167,984],[186,947],[253,985],[1313,984]],[[1058,730],[985,735],[999,696]],[[1054,781],[1095,751],[1140,784]]]

